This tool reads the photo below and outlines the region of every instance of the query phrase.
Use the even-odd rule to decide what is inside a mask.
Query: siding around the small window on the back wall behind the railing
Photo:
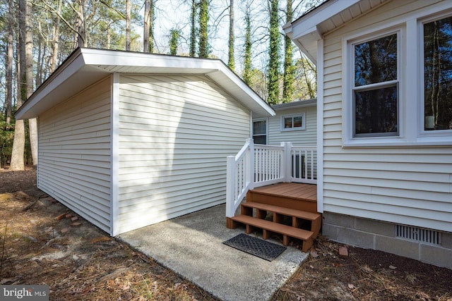
[[[304,113],[304,130],[281,130],[282,116],[295,116]],[[278,110],[268,118],[268,145],[280,145],[280,142],[292,142],[297,146],[315,146],[317,140],[316,106]]]

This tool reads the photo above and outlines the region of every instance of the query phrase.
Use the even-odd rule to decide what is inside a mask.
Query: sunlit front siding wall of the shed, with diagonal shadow
[[[121,75],[119,233],[225,202],[248,109],[196,75]]]

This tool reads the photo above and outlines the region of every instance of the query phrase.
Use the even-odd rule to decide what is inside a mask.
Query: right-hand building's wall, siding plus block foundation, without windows
[[[386,226],[383,227],[386,228],[389,223],[391,229],[395,224],[429,228],[440,231],[444,237],[450,238],[452,232],[450,146],[344,145],[345,131],[348,130],[344,116],[347,116],[346,112],[350,110],[345,107],[345,104],[350,102],[344,98],[350,95],[345,82],[348,76],[347,57],[344,57],[347,51],[343,49],[345,39],[357,36],[361,32],[364,35],[365,32],[372,32],[375,28],[394,26],[406,29],[406,24],[416,24],[417,20],[423,17],[424,6],[429,6],[427,10],[432,13],[435,5],[434,1],[388,1],[362,18],[357,18],[323,37],[323,104],[321,104],[323,145],[319,146],[323,148],[322,194],[325,213],[323,235],[333,240],[416,257],[410,255],[412,252],[410,247],[400,247],[398,251],[377,243],[376,241],[383,236],[388,238],[386,242],[390,239],[399,243],[404,240],[393,238],[393,235],[379,235],[371,228],[367,231],[357,229],[357,220],[369,222],[378,220],[376,223],[384,224]],[[439,6],[444,7],[444,2]],[[406,36],[403,38],[408,39]],[[403,46],[402,56],[410,55],[410,51],[416,47],[417,44]],[[417,67],[402,65],[402,80],[410,78],[409,68]],[[405,82],[400,89],[402,97],[406,98],[412,95],[412,91],[416,91],[417,85]],[[416,115],[410,116],[413,111],[410,111],[410,106],[407,105],[409,101],[410,99],[405,99],[400,105],[402,120],[417,118]],[[410,135],[411,130],[405,128],[402,135]],[[350,234],[347,235],[347,239],[343,234],[344,231]],[[365,234],[365,241],[359,239],[363,237],[359,234]],[[448,258],[451,256],[451,245],[443,243],[435,248],[443,255],[443,259],[441,257],[434,259],[433,256],[426,260],[424,255],[419,255],[416,259],[444,265],[444,256]]]

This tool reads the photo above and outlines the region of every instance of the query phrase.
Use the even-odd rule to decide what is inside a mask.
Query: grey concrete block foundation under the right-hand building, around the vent
[[[452,269],[452,233],[439,232],[439,243],[432,244],[399,238],[396,226],[395,223],[323,212],[322,234],[347,245],[381,250]]]

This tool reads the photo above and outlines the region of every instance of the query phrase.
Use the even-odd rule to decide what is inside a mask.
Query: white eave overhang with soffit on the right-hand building
[[[328,0],[292,23],[287,23],[283,30],[317,65],[317,41],[326,32],[368,13],[384,1],[387,0]]]

